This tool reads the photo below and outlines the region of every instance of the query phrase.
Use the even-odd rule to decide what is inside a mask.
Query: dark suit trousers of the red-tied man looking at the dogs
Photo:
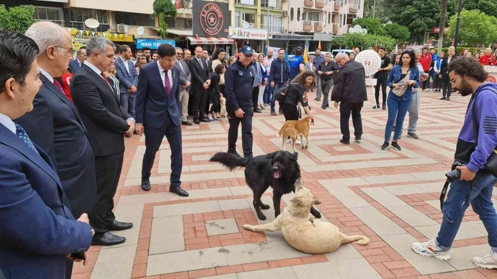
[[[183,168],[183,147],[181,145],[181,127],[176,126],[169,114],[166,122],[160,128],[144,126],[145,154],[142,163],[142,179],[149,179],[155,160],[155,154],[160,148],[164,135],[168,139],[171,149],[170,187],[181,186],[181,169]]]

